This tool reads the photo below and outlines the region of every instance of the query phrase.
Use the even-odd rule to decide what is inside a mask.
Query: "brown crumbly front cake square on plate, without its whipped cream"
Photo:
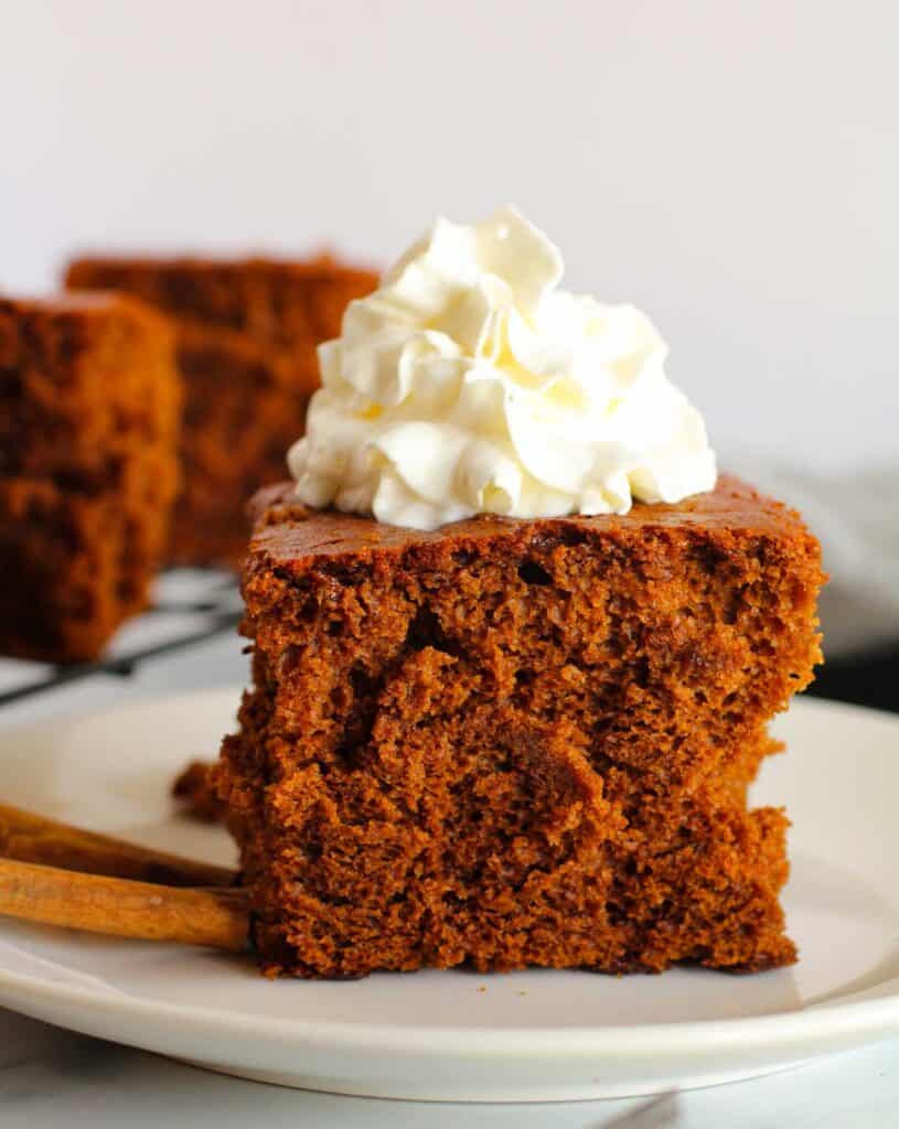
[[[263,970],[787,964],[747,786],[820,660],[819,546],[722,476],[433,533],[263,491],[217,787]]]

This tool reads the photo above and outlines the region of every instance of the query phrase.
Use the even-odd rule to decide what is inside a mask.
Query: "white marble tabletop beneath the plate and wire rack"
[[[186,580],[183,581],[186,584]],[[183,588],[187,592],[187,588]],[[169,592],[171,595],[171,592]],[[175,593],[177,595],[177,592]],[[194,615],[197,613],[193,613]],[[190,624],[193,625],[193,620]],[[119,641],[146,641],[177,628],[173,618],[130,627]],[[187,621],[181,621],[187,625]],[[173,690],[239,682],[241,644],[226,632],[175,655],[145,662],[130,677],[91,677],[7,704],[0,728],[67,712],[102,709]],[[0,690],[36,671],[0,662]],[[0,765],[1,770],[1,765]],[[0,1009],[0,1127],[50,1129],[81,1119],[91,1129],[158,1129],[159,1124],[244,1127],[558,1126],[688,1129],[896,1129],[899,1126],[899,1041],[881,1043],[785,1074],[716,1089],[566,1105],[461,1106],[338,1097],[279,1089],[60,1031]]]

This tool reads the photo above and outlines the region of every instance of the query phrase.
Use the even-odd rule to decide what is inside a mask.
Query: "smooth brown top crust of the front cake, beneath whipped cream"
[[[399,555],[410,549],[459,546],[486,540],[508,541],[512,550],[516,544],[541,537],[561,540],[571,533],[590,537],[643,528],[809,536],[795,510],[730,474],[721,474],[708,493],[695,495],[675,505],[635,502],[622,516],[523,519],[480,515],[433,532],[385,525],[356,514],[308,509],[291,500],[293,492],[291,482],[281,482],[260,490],[250,504],[254,526],[251,554],[263,554],[274,566],[307,567],[337,558]]]

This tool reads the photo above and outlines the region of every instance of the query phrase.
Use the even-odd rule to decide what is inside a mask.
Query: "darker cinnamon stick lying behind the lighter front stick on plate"
[[[229,886],[235,872],[0,804],[0,856],[165,886]]]

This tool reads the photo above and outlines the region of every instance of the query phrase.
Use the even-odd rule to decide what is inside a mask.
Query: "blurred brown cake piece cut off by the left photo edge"
[[[93,659],[145,606],[180,412],[172,331],[151,308],[0,299],[0,653]]]

